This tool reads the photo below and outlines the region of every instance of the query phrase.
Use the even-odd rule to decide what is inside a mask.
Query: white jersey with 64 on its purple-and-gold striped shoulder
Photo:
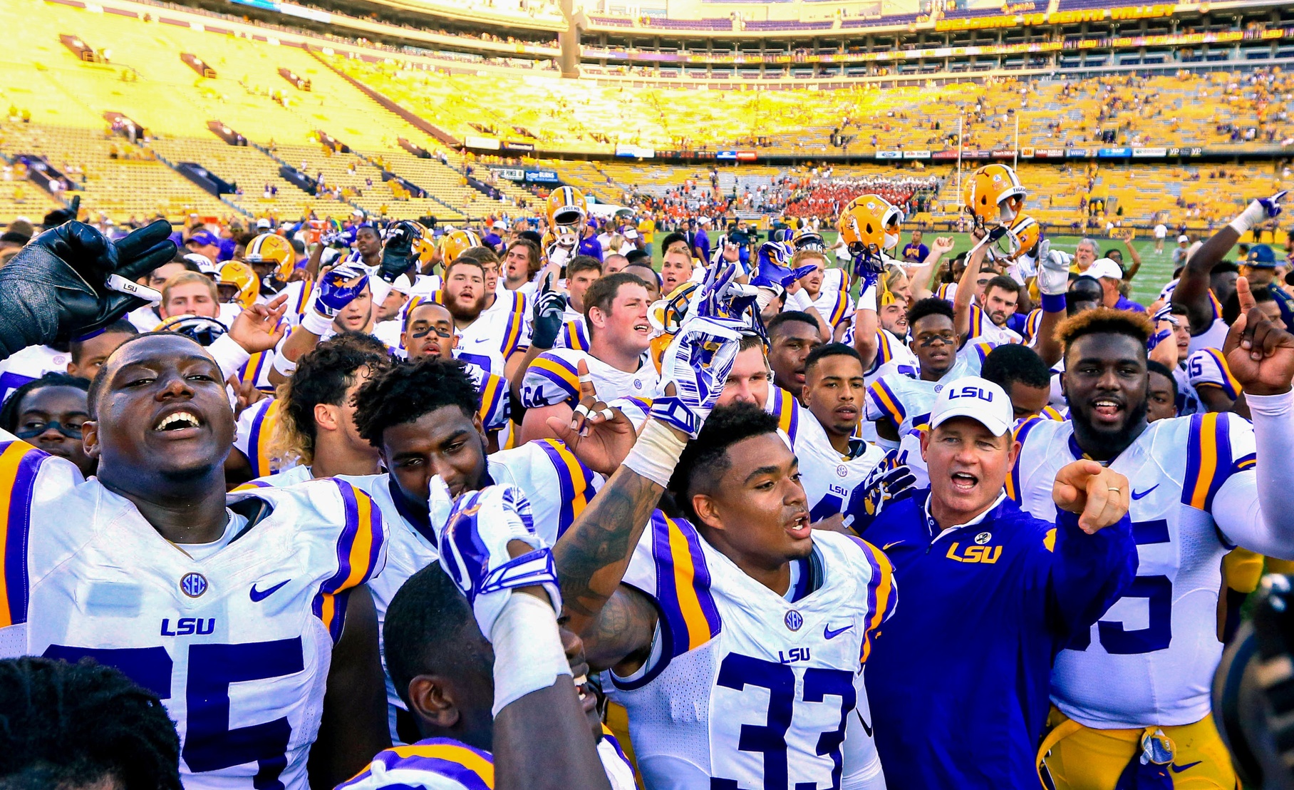
[[[580,403],[580,360],[589,367],[598,398],[606,401],[617,398],[655,398],[656,365],[644,355],[638,370],[626,373],[612,368],[587,351],[549,348],[531,361],[521,379],[521,404],[528,408],[567,403],[575,408]]]

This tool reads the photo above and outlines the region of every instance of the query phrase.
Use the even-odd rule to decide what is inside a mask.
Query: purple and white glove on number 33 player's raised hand
[[[739,319],[690,313],[661,357],[651,416],[695,439],[719,399],[744,328]]]

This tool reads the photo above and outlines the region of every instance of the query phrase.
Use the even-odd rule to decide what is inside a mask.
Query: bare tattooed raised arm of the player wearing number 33
[[[621,466],[553,547],[567,627],[584,640],[595,670],[628,675],[651,651],[656,607],[620,580],[664,491]]]

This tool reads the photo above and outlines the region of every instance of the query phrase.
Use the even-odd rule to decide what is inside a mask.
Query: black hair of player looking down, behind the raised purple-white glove
[[[471,420],[481,408],[480,392],[467,365],[457,359],[399,363],[364,382],[355,394],[355,426],[373,447],[382,433],[446,405]]]

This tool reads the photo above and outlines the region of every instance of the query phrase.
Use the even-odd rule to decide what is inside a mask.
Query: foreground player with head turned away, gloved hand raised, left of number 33
[[[556,587],[551,571],[472,587],[532,559],[551,567],[547,545],[523,521],[531,517],[524,505],[494,486],[463,496],[437,525],[437,541],[472,540],[488,554],[465,561],[446,552],[449,572],[432,559],[395,596],[383,633],[418,738],[378,754],[338,790],[597,790],[608,787],[612,772],[619,781],[611,787],[634,786],[619,750],[607,742],[594,749],[590,719],[598,736],[602,721],[578,640],[559,632],[560,597],[541,584],[540,576]]]

